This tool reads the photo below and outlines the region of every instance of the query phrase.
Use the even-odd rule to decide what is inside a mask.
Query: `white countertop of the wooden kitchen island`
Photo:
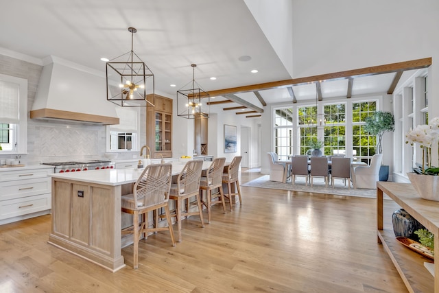
[[[209,168],[212,162],[204,162],[203,169]],[[172,175],[180,174],[185,165],[181,163],[172,164]],[[52,178],[60,178],[66,180],[76,180],[86,183],[95,183],[102,185],[123,185],[126,183],[134,183],[141,176],[144,168],[141,169],[99,169],[81,172],[56,173],[49,174]]]

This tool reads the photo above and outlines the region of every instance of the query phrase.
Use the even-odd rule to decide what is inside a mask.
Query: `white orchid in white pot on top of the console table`
[[[418,143],[423,151],[421,167],[414,168],[414,173],[407,173],[410,182],[421,198],[439,201],[439,167],[431,165],[431,147],[439,146],[439,117],[431,119],[429,124],[410,129],[405,138],[405,142],[411,145]]]

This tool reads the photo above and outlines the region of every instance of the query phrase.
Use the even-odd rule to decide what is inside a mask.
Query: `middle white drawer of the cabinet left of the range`
[[[47,194],[51,191],[50,178],[36,178],[0,183],[0,200]]]

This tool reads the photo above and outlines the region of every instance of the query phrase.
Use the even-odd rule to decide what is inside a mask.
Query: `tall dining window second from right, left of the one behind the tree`
[[[323,154],[346,154],[346,104],[324,105],[324,115]]]

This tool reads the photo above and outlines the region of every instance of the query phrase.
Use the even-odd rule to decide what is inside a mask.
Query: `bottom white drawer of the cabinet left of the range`
[[[0,220],[51,209],[51,194],[0,201]]]

